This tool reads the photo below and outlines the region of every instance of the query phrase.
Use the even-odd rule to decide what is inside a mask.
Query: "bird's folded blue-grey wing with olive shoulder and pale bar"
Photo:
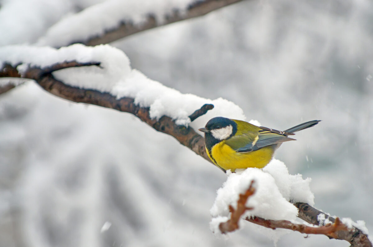
[[[226,140],[226,144],[239,153],[248,153],[256,151],[262,147],[283,143],[284,141],[295,140],[287,137],[285,133],[279,133],[282,131],[274,131],[276,130],[268,128],[263,129],[260,127],[260,130],[257,133],[250,132],[233,136]]]

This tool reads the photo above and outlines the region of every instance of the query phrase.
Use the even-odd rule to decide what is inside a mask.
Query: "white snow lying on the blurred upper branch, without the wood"
[[[139,26],[149,15],[162,23],[175,9],[183,14],[190,3],[191,0],[104,1],[62,18],[36,44],[61,47],[72,41],[86,41],[117,28],[122,22]]]

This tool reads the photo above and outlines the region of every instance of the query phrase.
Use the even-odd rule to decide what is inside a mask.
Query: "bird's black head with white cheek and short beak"
[[[237,132],[237,124],[223,117],[211,118],[204,128],[198,129],[205,133],[205,138],[213,137],[219,141],[232,137]]]

